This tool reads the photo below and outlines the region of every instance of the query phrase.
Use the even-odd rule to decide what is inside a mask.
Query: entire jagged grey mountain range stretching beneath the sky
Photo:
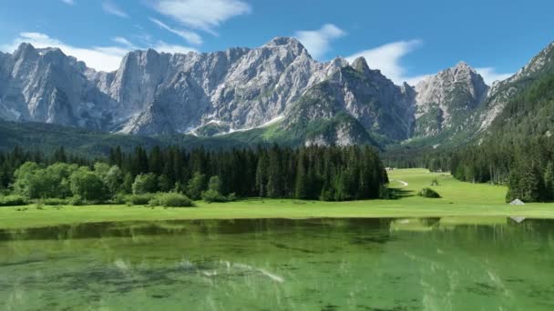
[[[371,60],[317,62],[288,37],[213,53],[134,51],[110,73],[22,44],[0,53],[0,119],[140,136],[436,146],[486,135],[510,101],[552,73],[554,44],[494,85],[464,62],[395,85]]]

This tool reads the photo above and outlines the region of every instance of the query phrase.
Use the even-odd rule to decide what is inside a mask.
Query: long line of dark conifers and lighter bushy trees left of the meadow
[[[176,192],[212,201],[274,197],[344,201],[386,195],[388,179],[368,146],[271,147],[207,151],[177,146],[112,148],[105,158],[0,153],[0,189],[29,198],[79,196],[105,201],[118,194]]]

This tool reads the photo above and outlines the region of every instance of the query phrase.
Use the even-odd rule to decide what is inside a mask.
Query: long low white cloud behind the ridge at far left
[[[78,47],[67,45],[64,42],[45,34],[21,33],[11,44],[0,45],[0,50],[7,53],[12,53],[17,49],[19,45],[24,42],[34,45],[36,48],[58,47],[66,55],[72,55],[75,56],[78,60],[84,61],[90,68],[110,72],[118,69],[121,63],[121,59],[130,50],[145,48],[137,47],[123,37],[115,37],[113,38],[113,41],[122,46],[116,45]],[[156,45],[151,45],[148,47],[152,47],[159,52],[166,53],[188,53],[190,51],[196,51],[195,49],[190,47],[180,45],[168,45],[164,42],[159,42]]]

